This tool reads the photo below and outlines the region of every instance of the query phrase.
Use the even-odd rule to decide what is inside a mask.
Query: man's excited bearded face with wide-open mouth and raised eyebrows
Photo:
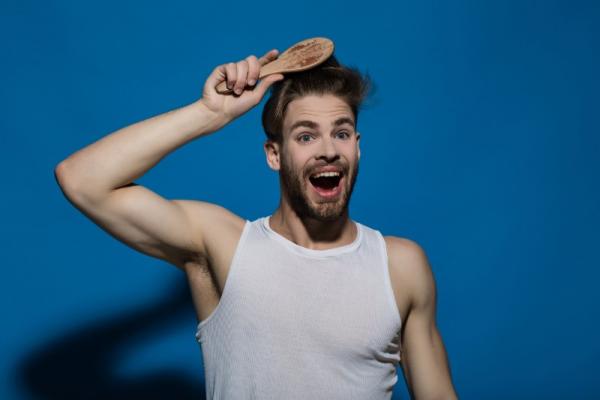
[[[280,181],[294,211],[321,221],[342,216],[360,158],[360,135],[348,104],[333,95],[296,99],[287,106],[282,135]]]

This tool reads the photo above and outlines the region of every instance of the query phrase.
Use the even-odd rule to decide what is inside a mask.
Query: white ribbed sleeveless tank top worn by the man
[[[312,250],[246,221],[221,299],[198,324],[207,399],[390,399],[401,318],[383,236],[356,223]]]

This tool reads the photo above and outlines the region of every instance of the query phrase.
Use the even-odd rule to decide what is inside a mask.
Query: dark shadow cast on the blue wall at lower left
[[[21,362],[19,383],[39,399],[205,399],[203,383],[179,371],[133,378],[113,372],[119,349],[135,340],[133,333],[163,330],[191,308],[181,284],[159,302],[67,332]]]

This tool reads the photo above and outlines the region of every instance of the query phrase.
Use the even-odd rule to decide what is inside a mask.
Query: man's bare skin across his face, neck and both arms
[[[216,67],[198,101],[115,131],[55,169],[66,198],[94,223],[131,248],[185,272],[199,320],[219,302],[245,220],[215,204],[167,200],[134,180],[170,152],[218,131],[257,105],[268,87],[283,78],[276,74],[257,83],[260,66],[277,54],[271,50],[260,58],[249,56]],[[215,91],[223,80],[234,95]],[[292,129],[298,121],[311,126]],[[282,142],[264,144],[267,163],[279,172],[281,182],[271,228],[300,246],[324,250],[356,237],[356,225],[348,216],[360,159],[354,121],[340,98],[302,97],[288,105]],[[312,189],[308,177],[316,168],[332,165],[343,171],[342,192],[325,199]],[[409,239],[386,236],[385,241],[403,323],[402,368],[411,396],[455,399],[435,322],[436,288],[427,256]]]

